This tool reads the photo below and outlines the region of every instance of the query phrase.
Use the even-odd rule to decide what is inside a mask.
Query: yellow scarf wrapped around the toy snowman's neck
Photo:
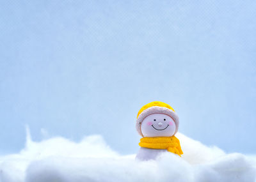
[[[167,149],[177,155],[182,155],[180,140],[175,136],[172,137],[144,137],[140,139],[139,146],[150,149]]]

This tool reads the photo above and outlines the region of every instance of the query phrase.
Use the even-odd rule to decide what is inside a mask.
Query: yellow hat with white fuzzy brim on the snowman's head
[[[146,105],[141,107],[141,109],[138,112],[137,120],[136,120],[136,129],[141,136],[142,136],[142,133],[141,133],[140,127],[141,127],[141,123],[142,123],[143,119],[146,118],[150,114],[156,114],[156,113],[166,114],[166,115],[170,116],[176,125],[175,133],[178,132],[179,117],[175,113],[174,109],[167,103],[154,101],[154,102],[147,103]]]

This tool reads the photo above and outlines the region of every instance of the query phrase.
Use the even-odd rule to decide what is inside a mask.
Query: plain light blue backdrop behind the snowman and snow
[[[0,1],[0,151],[101,134],[136,153],[141,106],[179,131],[255,153],[255,1]],[[182,141],[181,141],[182,142]]]

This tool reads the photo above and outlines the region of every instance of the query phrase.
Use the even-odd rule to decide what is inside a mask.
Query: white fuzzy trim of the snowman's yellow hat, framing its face
[[[137,132],[142,137],[143,137],[143,135],[141,133],[141,123],[142,123],[143,119],[146,118],[150,114],[166,114],[166,115],[170,116],[173,119],[173,121],[175,122],[175,125],[176,125],[175,133],[178,132],[178,129],[179,129],[179,117],[178,117],[178,115],[173,110],[168,109],[166,107],[152,106],[152,107],[149,107],[148,109],[143,110],[143,112],[141,112],[141,114],[138,116],[138,118],[136,120]],[[174,133],[174,135],[175,135],[175,133]]]

